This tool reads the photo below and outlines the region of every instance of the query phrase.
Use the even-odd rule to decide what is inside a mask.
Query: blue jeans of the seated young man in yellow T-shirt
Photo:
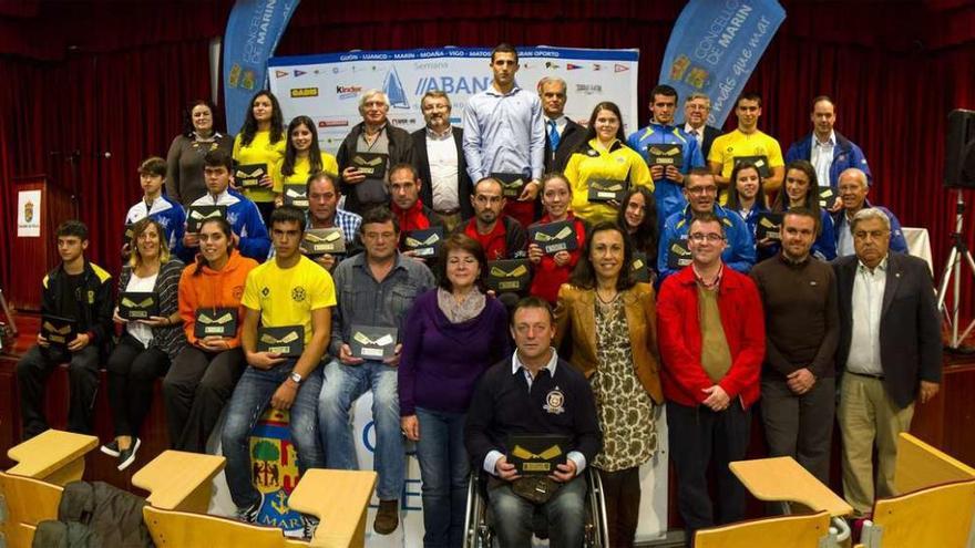
[[[291,373],[295,360],[267,371],[248,366],[234,389],[227,406],[227,422],[220,440],[227,457],[227,487],[238,508],[247,508],[260,499],[250,482],[250,431],[270,403],[278,386]],[[318,445],[316,416],[318,394],[321,392],[321,369],[316,368],[301,382],[290,410],[291,443],[298,449],[298,472],[325,468],[325,455]]]

